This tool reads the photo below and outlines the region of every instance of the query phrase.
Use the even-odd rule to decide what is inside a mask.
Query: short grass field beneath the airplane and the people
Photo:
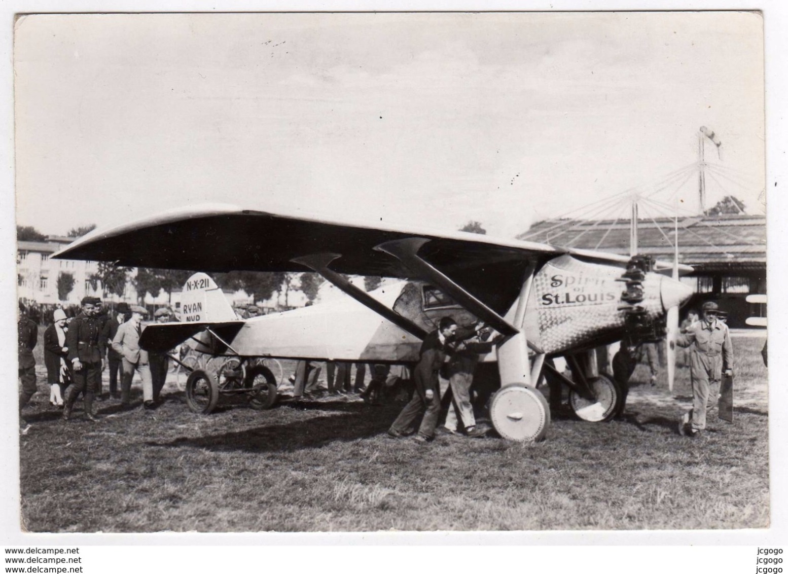
[[[712,415],[700,441],[674,396],[643,385],[623,420],[554,416],[545,442],[385,435],[402,403],[323,399],[257,412],[222,399],[188,411],[173,391],[154,412],[99,403],[101,423],[50,408],[39,378],[20,437],[28,531],[403,531],[751,528],[769,524],[763,339],[734,339],[734,423]],[[136,404],[139,405],[137,396]],[[79,403],[78,405],[80,405]]]

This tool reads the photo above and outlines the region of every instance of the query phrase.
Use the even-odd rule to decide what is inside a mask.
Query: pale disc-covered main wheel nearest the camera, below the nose
[[[529,386],[507,385],[492,395],[492,427],[510,441],[540,441],[550,426],[550,408],[545,397]]]

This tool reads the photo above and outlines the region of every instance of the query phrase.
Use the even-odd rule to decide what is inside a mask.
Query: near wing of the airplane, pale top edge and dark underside
[[[54,257],[215,273],[304,271],[307,269],[292,259],[332,252],[341,255],[331,265],[338,273],[407,278],[410,273],[398,259],[374,251],[378,244],[407,237],[429,239],[419,255],[445,273],[494,269],[497,274],[501,267],[511,267],[511,263],[551,259],[565,252],[546,244],[474,233],[445,233],[384,223],[369,225],[284,210],[253,211],[210,205],[113,229],[96,229]]]

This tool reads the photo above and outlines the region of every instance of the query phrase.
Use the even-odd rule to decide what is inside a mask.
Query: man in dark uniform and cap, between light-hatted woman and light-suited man
[[[69,348],[68,360],[71,363],[74,384],[66,393],[64,420],[71,418],[71,410],[80,393],[84,393],[85,418],[93,423],[99,420],[93,413],[93,399],[96,391],[101,388],[104,355],[102,324],[96,316],[100,305],[101,300],[98,297],[83,297],[82,312],[69,323],[69,330],[65,334],[65,346]]]

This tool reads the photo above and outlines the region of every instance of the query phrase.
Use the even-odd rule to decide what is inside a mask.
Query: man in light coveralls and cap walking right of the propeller
[[[718,307],[707,301],[701,310],[701,320],[676,336],[676,344],[689,347],[689,377],[692,380],[693,408],[679,423],[680,434],[696,438],[706,428],[706,412],[719,395],[723,371],[733,376],[733,345],[728,328],[717,320]]]

